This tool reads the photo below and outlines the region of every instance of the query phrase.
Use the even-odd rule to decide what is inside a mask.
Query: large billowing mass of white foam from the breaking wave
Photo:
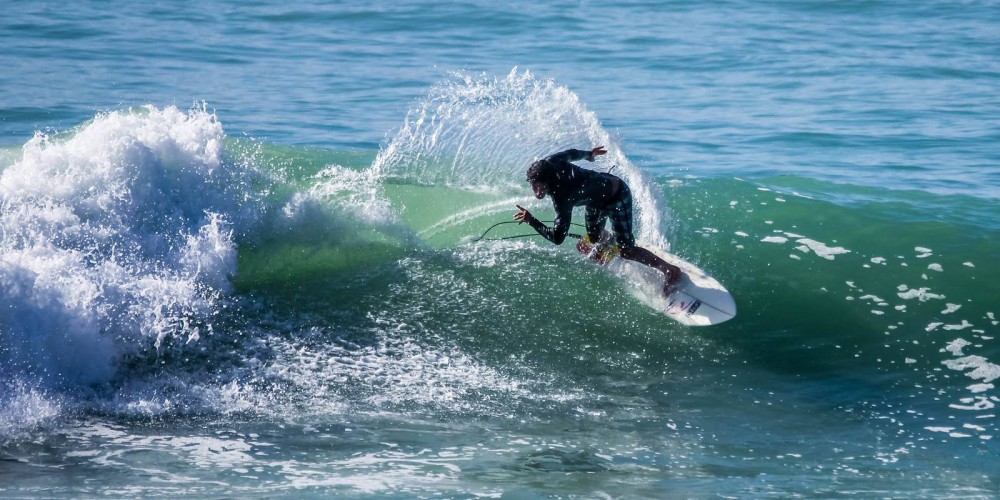
[[[0,374],[92,383],[147,340],[210,327],[234,224],[258,208],[224,139],[204,107],[148,106],[24,145],[0,175]]]

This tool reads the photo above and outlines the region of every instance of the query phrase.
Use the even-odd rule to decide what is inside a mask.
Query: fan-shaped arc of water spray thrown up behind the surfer
[[[585,166],[614,168],[632,188],[637,236],[666,246],[661,203],[651,182],[576,94],[528,71],[515,68],[505,78],[453,74],[410,110],[372,171],[418,184],[528,194],[524,172],[532,161],[601,145],[608,154]]]

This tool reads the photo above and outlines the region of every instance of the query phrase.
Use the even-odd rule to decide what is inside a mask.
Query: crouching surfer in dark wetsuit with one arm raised
[[[604,225],[610,218],[611,229],[621,248],[622,258],[660,270],[666,279],[663,293],[670,295],[681,279],[681,270],[635,244],[635,236],[632,234],[632,191],[628,184],[614,175],[570,163],[583,159],[594,161],[594,158],[606,153],[604,146],[590,151],[567,149],[532,163],[528,167],[527,181],[531,183],[535,198],[541,200],[546,195],[552,197],[556,218],[552,227],[548,227],[527,209],[516,205],[519,211],[514,214],[514,220],[518,223],[527,222],[545,239],[561,245],[569,233],[573,207],[586,206],[587,236],[598,246],[597,249],[608,243],[608,238],[602,236],[605,234]]]

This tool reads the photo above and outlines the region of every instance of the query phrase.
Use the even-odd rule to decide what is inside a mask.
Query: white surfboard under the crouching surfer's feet
[[[670,295],[663,294],[663,274],[656,269],[618,256],[618,249],[605,245],[601,253],[593,252],[584,236],[577,251],[611,272],[624,277],[630,284],[629,291],[649,307],[665,314],[678,323],[688,326],[717,325],[736,316],[736,301],[715,278],[694,264],[647,243],[638,242],[656,256],[684,272]]]

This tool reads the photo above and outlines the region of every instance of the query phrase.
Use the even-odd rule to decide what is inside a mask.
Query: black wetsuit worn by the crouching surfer
[[[614,175],[570,163],[590,158],[590,155],[590,151],[568,149],[545,159],[556,169],[555,180],[549,186],[548,193],[552,197],[556,218],[552,227],[535,218],[526,222],[545,239],[559,245],[569,233],[573,208],[586,206],[587,234],[592,241],[597,241],[600,237],[604,223],[610,216],[618,245],[623,249],[631,248],[635,246],[635,237],[632,235],[632,192],[625,181]]]

